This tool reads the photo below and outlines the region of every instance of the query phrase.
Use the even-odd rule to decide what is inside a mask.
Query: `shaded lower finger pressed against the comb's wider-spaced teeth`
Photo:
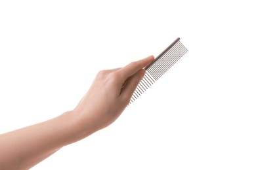
[[[135,92],[135,89],[137,88],[140,80],[143,78],[144,75],[145,70],[140,69],[139,71],[137,71],[137,73],[135,73],[135,75],[128,78],[121,92],[122,97],[125,97],[126,100],[130,100],[133,92]]]

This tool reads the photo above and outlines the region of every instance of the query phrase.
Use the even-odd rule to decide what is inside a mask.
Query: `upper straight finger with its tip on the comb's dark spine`
[[[140,69],[143,69],[144,67],[149,65],[152,61],[154,61],[154,56],[149,56],[148,58],[134,61],[119,69],[119,73],[121,74],[121,76],[123,76],[124,80],[126,80],[130,76],[135,75],[135,73],[137,73]]]

